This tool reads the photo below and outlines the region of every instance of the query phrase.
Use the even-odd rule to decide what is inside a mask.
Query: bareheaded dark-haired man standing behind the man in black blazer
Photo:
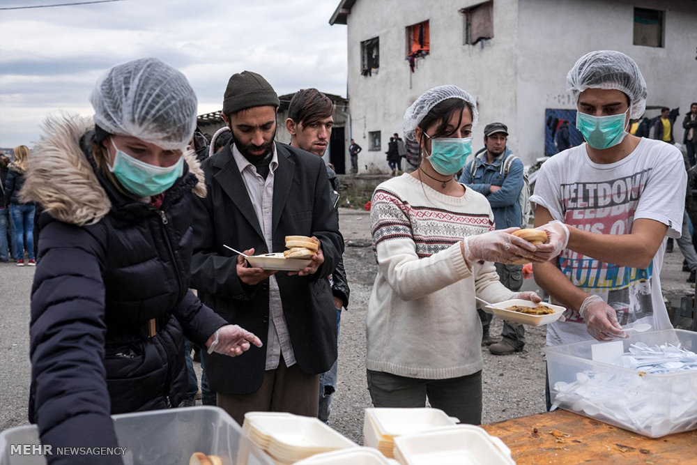
[[[291,135],[291,147],[324,155],[332,135],[334,125],[334,104],[332,100],[317,89],[300,89],[291,99],[288,107],[286,129]],[[332,186],[330,199],[339,215],[339,180],[333,169],[327,166],[327,176]],[[348,307],[348,281],[344,270],[344,259],[328,277],[334,295],[334,307],[337,312],[337,334],[341,327],[342,307]],[[337,362],[319,378],[319,419],[328,422],[332,404],[332,395],[337,389]]]

